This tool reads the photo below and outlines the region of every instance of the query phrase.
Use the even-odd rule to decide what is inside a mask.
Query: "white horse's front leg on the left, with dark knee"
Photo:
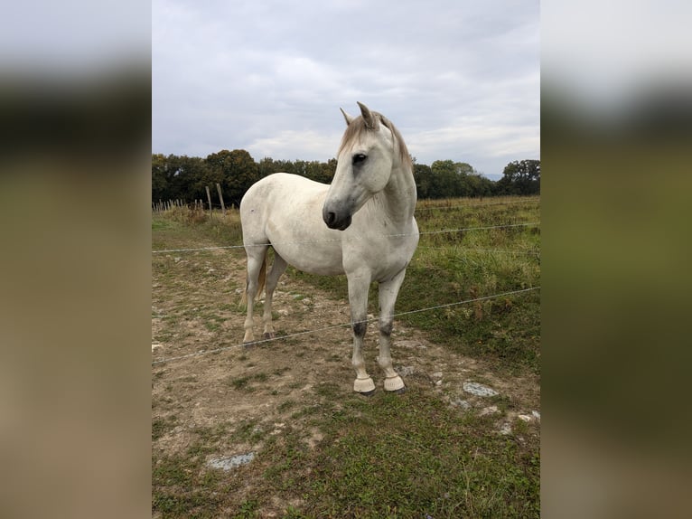
[[[356,370],[356,380],[353,382],[353,391],[369,396],[375,392],[375,382],[372,382],[368,372],[365,371],[365,359],[363,358],[363,338],[368,329],[368,291],[369,278],[360,276],[348,276],[349,303],[351,305],[351,328],[353,330],[353,357],[351,363]]]

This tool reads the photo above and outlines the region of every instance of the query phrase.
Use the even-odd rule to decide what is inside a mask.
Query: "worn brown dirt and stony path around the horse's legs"
[[[228,443],[215,456],[256,451],[291,420],[300,427],[300,410],[309,413],[325,395],[339,401],[352,393],[351,330],[346,301],[284,277],[275,294],[275,328],[279,335],[320,329],[251,347],[240,344],[244,314],[238,302],[245,285],[245,261],[225,250],[154,258],[152,301],[152,413],[164,424],[153,448],[166,455],[191,448],[200,430],[223,428]],[[344,280],[345,282],[345,280]],[[256,313],[256,335],[261,332]],[[330,327],[337,326],[337,327]],[[326,329],[325,329],[326,328]],[[378,391],[383,377],[377,364],[377,326],[366,335],[365,357]],[[479,359],[454,354],[435,338],[402,327],[392,335],[395,368],[409,387],[433,392],[466,412],[487,409],[499,431],[517,417],[528,417],[538,434],[538,377],[500,378]],[[466,392],[464,382],[488,386],[498,395]],[[536,412],[534,412],[536,411]],[[313,447],[319,430],[304,430]]]

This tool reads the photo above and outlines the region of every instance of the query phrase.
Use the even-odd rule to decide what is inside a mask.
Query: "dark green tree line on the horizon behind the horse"
[[[152,202],[205,199],[205,187],[220,184],[227,203],[238,206],[250,185],[278,172],[329,184],[336,172],[336,159],[320,162],[265,157],[256,162],[244,149],[224,149],[206,158],[153,154]],[[414,177],[419,199],[540,193],[539,160],[510,162],[502,178],[492,181],[467,163],[436,160],[425,165],[414,159]]]

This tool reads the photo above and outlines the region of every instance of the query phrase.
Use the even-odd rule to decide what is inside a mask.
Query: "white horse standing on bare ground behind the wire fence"
[[[375,391],[362,354],[367,328],[368,291],[379,283],[379,357],[384,388],[406,391],[392,367],[394,304],[418,244],[416,183],[411,157],[394,125],[360,106],[352,118],[341,109],[347,128],[341,138],[331,185],[276,173],[253,184],[240,203],[243,245],[248,254],[248,304],[244,343],[252,332],[253,301],[266,283],[264,337],[274,336],[272,296],[288,264],[313,274],[346,274],[353,329],[353,390]],[[267,273],[267,250],[275,260]]]

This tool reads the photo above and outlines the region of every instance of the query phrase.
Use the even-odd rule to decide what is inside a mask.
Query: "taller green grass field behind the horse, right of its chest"
[[[539,211],[536,198],[419,203],[416,221],[421,239],[397,297],[397,314],[538,287],[540,227],[476,228],[539,222]],[[475,230],[425,234],[456,229]],[[288,275],[337,297],[348,297],[345,277],[313,276],[292,268]],[[377,315],[377,309],[377,285],[373,284],[369,313]],[[538,290],[408,314],[397,320],[434,333],[436,342],[459,353],[482,356],[496,370],[539,373]]]

